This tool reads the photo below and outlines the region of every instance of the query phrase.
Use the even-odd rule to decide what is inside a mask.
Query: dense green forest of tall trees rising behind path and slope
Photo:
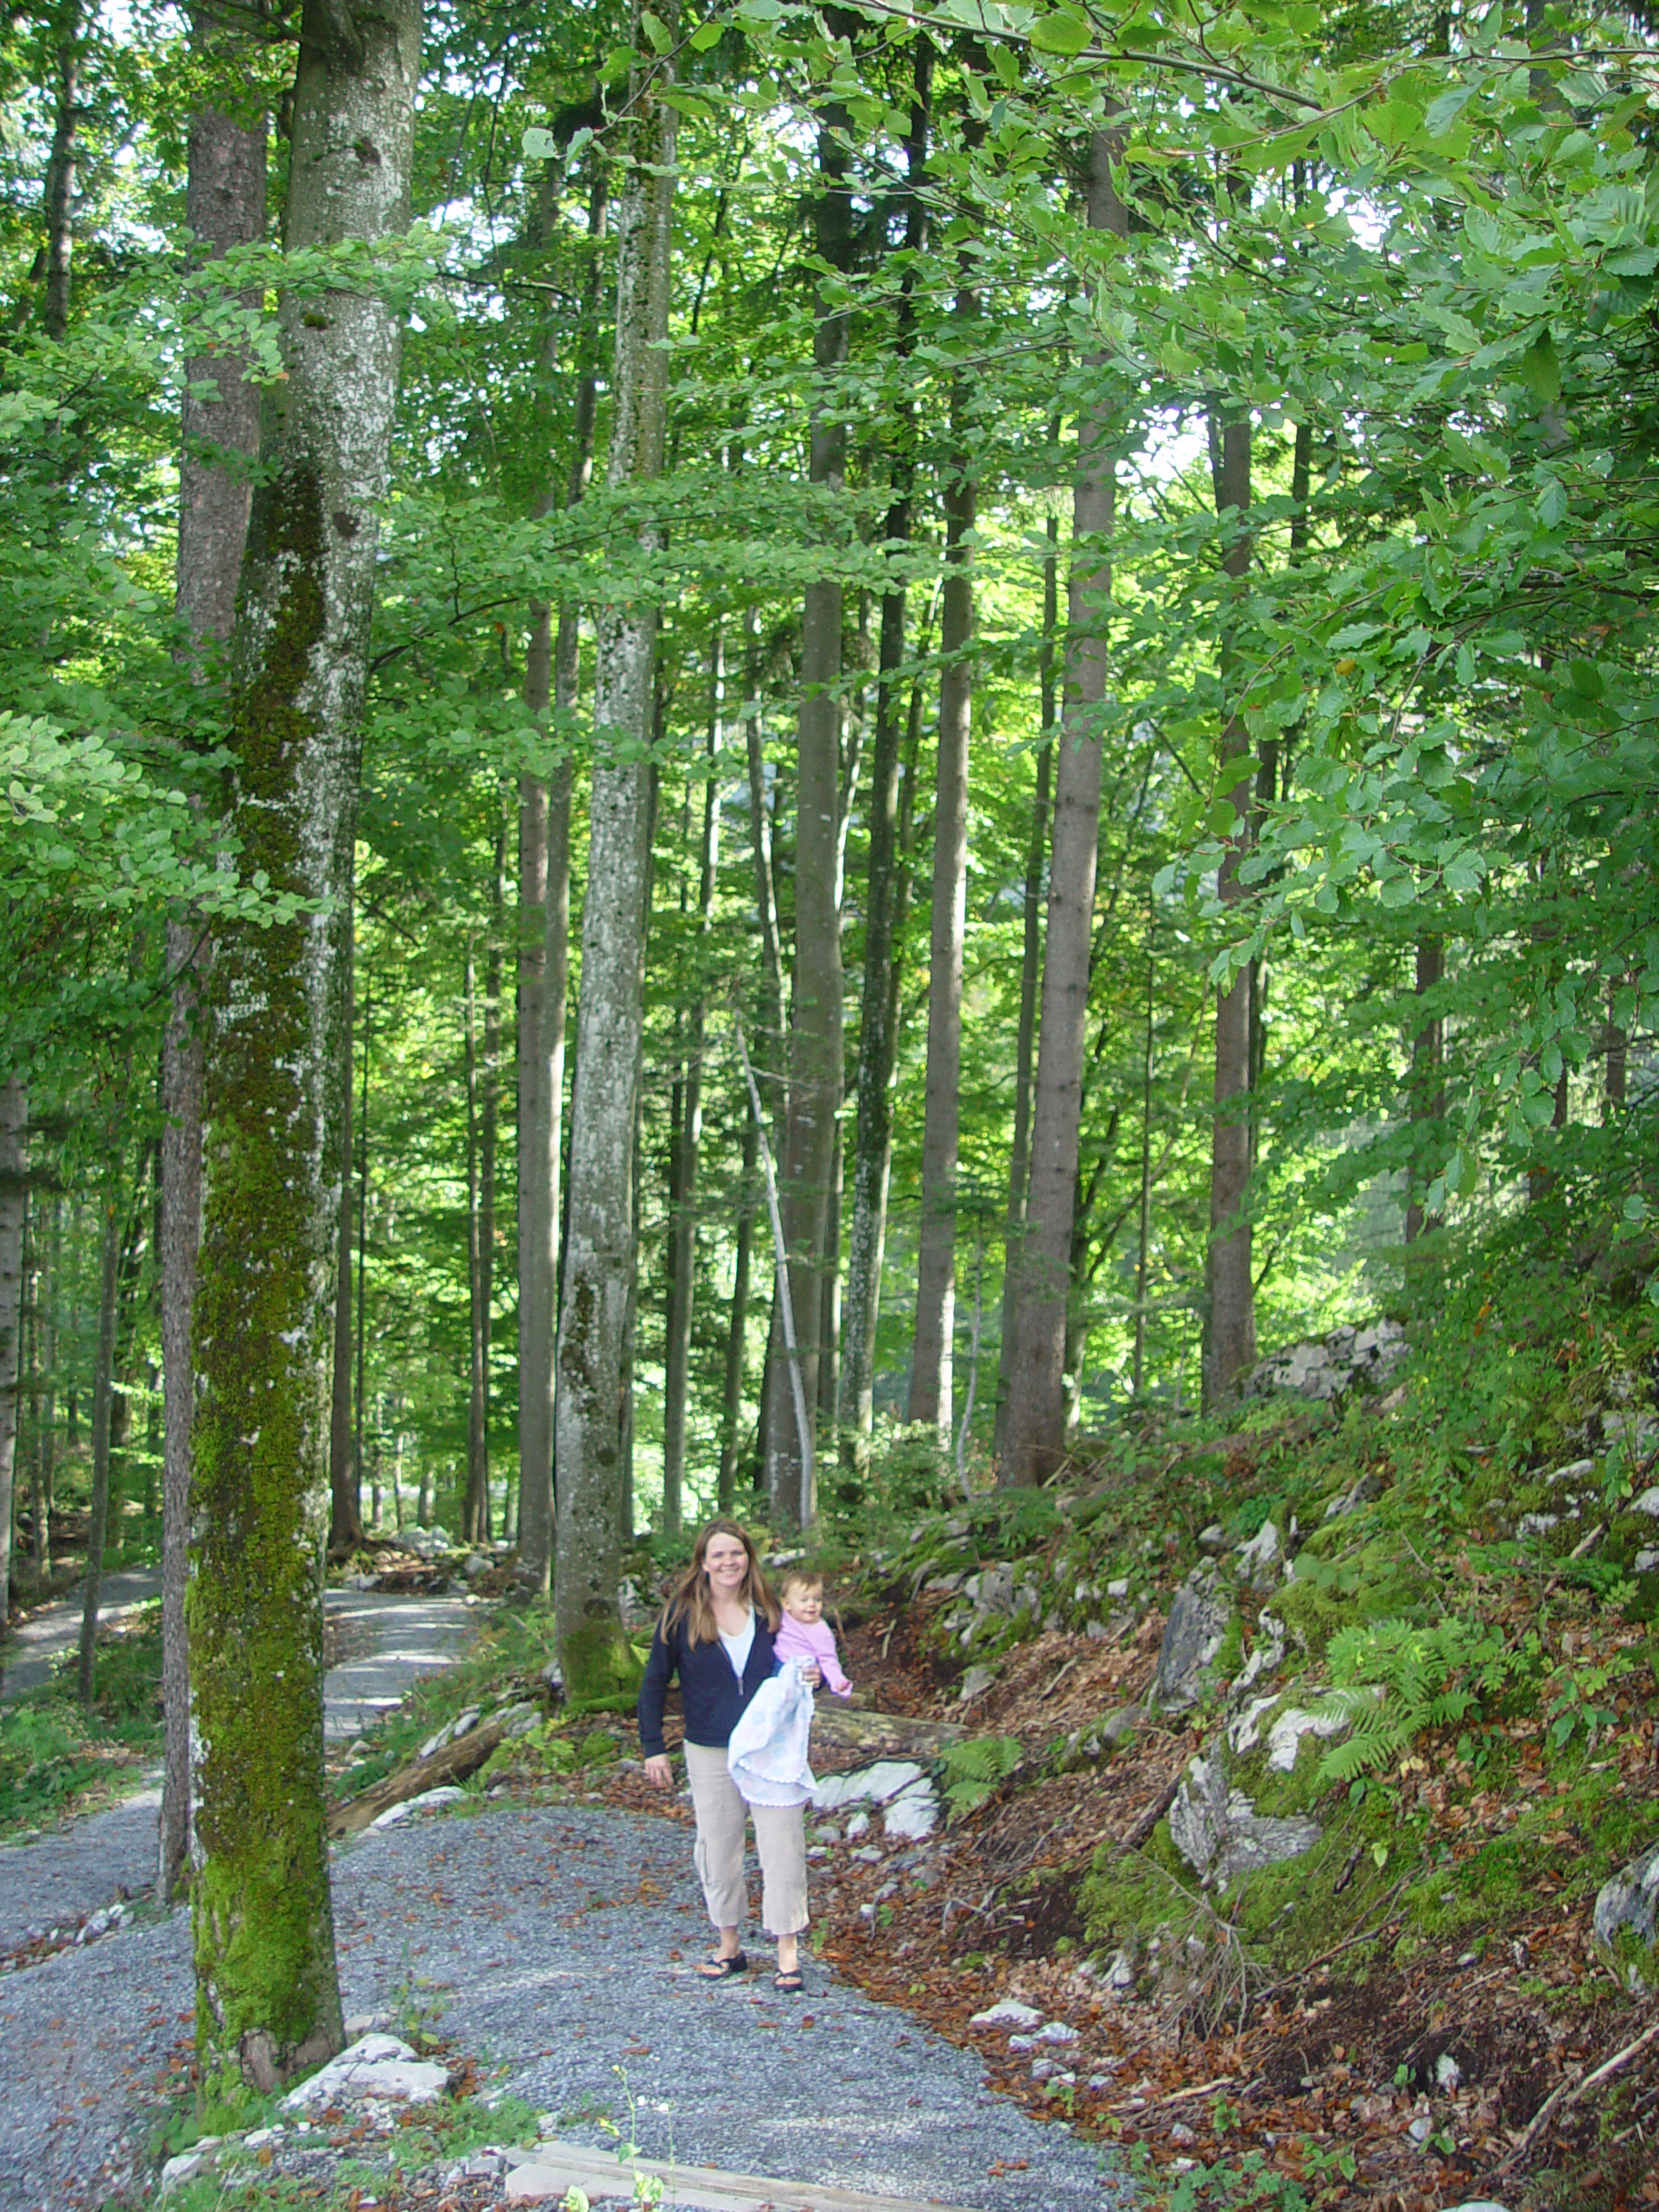
[[[0,1582],[91,1701],[161,1564],[210,2077],[338,2044],[325,1559],[604,1703],[717,1509],[1648,1343],[1655,115],[1548,0],[13,0]]]

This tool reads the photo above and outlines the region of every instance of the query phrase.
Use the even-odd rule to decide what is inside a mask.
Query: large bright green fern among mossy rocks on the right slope
[[[1332,1637],[1336,1690],[1318,1708],[1354,1723],[1318,1763],[1321,1783],[1352,1783],[1389,1765],[1425,1728],[1449,1728],[1533,1668],[1537,1637],[1504,1641],[1486,1621],[1360,1621]]]

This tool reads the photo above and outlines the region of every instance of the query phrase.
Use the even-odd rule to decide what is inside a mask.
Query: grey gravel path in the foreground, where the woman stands
[[[701,1982],[686,1827],[577,1805],[409,1820],[341,1849],[334,1916],[347,2013],[440,2008],[568,2139],[615,2141],[597,2117],[626,2121],[626,2068],[646,2157],[984,2212],[1128,2201],[1095,2150],[989,2093],[971,2051],[825,1969],[803,2000],[761,1973]],[[0,1980],[0,2212],[119,2185],[188,2037],[184,1913]]]

